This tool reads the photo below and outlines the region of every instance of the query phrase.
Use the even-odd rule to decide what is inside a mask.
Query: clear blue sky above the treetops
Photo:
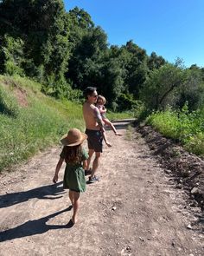
[[[169,62],[182,58],[204,67],[204,0],[65,0],[66,10],[86,10],[108,43],[129,40]]]

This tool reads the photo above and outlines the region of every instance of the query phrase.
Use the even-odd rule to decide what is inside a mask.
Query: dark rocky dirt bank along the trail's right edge
[[[164,138],[150,126],[137,127],[149,145],[152,154],[172,176],[177,188],[183,188],[188,194],[188,203],[204,210],[204,161],[200,157],[185,151],[174,141]]]

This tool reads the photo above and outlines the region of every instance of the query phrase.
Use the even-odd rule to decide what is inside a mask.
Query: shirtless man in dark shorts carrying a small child
[[[99,178],[95,175],[97,168],[99,167],[99,160],[103,149],[103,132],[104,122],[102,121],[97,108],[94,103],[97,102],[97,91],[94,87],[87,87],[84,90],[84,96],[86,102],[83,105],[83,115],[86,123],[86,135],[88,136],[88,154],[87,170],[86,174],[90,174],[89,182],[93,183],[99,181]],[[94,160],[92,162],[92,172],[89,171],[89,165],[92,159],[92,155],[95,153]]]

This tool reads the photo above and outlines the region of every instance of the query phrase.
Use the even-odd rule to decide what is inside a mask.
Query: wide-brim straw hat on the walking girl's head
[[[86,134],[81,133],[80,130],[77,128],[72,128],[68,131],[66,135],[63,135],[61,137],[61,143],[64,146],[77,146],[85,141],[86,138]]]

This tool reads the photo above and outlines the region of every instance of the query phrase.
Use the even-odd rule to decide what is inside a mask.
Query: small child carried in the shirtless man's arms
[[[105,122],[106,125],[108,125],[112,128],[112,131],[114,132],[115,135],[121,136],[121,134],[119,134],[117,132],[117,130],[114,127],[114,125],[112,124],[112,122],[105,116],[105,113],[107,111],[107,109],[104,106],[105,103],[106,103],[105,97],[102,95],[98,95],[96,107],[99,108],[100,115],[102,116],[102,120]]]

